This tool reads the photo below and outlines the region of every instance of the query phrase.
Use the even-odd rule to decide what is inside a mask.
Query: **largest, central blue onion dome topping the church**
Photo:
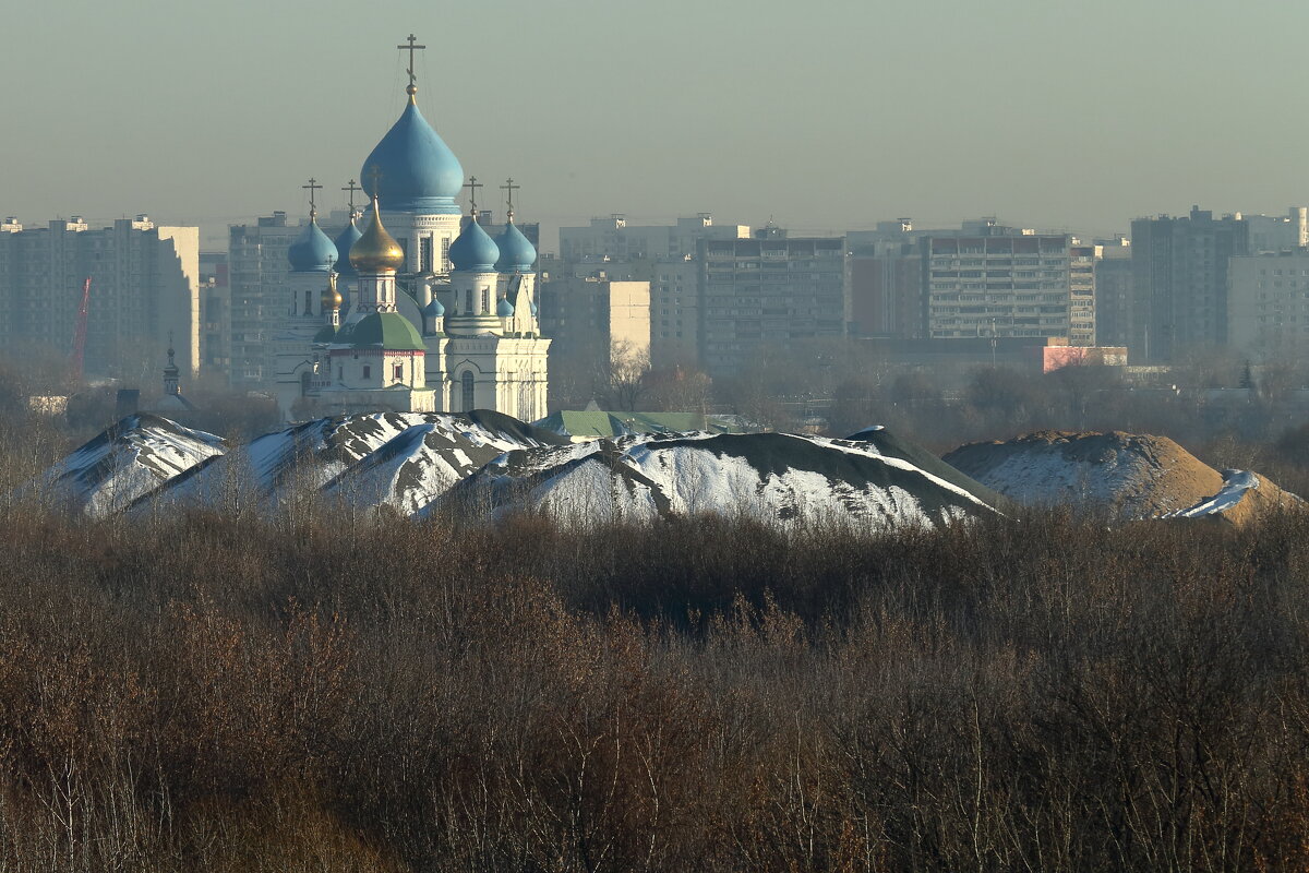
[[[364,191],[385,200],[387,209],[458,215],[454,198],[463,188],[463,168],[418,111],[416,90],[410,86],[408,105],[368,154],[359,178]],[[374,169],[381,177],[376,183]]]

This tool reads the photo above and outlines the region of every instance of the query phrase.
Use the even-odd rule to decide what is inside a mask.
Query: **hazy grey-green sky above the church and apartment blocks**
[[[1106,233],[1309,202],[1289,0],[8,0],[0,215],[149,212],[221,240],[304,211],[310,175],[340,207],[403,107],[410,31],[428,120],[547,228]]]

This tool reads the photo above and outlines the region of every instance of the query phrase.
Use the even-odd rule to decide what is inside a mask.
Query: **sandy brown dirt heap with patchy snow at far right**
[[[942,458],[1028,505],[1100,505],[1130,518],[1219,517],[1233,524],[1299,499],[1258,474],[1219,472],[1168,437],[1039,431],[971,442]]]

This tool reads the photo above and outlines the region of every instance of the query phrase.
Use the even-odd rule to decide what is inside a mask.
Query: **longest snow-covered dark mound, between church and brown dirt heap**
[[[569,524],[715,513],[878,530],[995,512],[977,483],[888,446],[788,433],[630,435],[507,453],[441,505],[491,517],[528,509]]]

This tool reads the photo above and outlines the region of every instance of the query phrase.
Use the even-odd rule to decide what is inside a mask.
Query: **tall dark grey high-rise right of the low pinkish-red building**
[[[1132,221],[1132,359],[1166,363],[1187,349],[1225,344],[1228,260],[1249,245],[1244,219],[1215,219],[1199,207],[1183,217]]]

